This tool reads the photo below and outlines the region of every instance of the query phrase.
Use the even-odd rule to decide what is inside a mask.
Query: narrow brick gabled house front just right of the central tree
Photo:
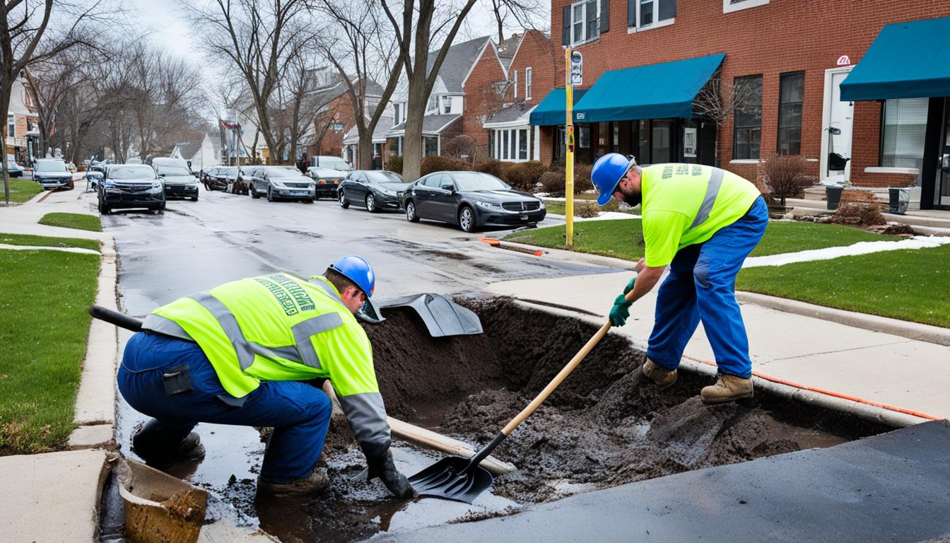
[[[495,48],[488,44],[462,88],[466,93],[462,133],[475,138],[478,157],[488,156],[488,132],[482,124],[503,104],[503,96],[498,92],[499,87],[492,84],[504,80],[504,68],[495,54]],[[447,141],[445,138],[443,140],[444,143]]]

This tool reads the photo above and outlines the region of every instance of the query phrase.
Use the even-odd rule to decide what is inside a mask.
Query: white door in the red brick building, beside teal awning
[[[825,72],[825,107],[822,112],[822,181],[842,184],[851,178],[851,125],[854,102],[841,101],[841,82],[851,67]],[[839,156],[834,156],[835,155]],[[845,162],[846,161],[846,162]]]

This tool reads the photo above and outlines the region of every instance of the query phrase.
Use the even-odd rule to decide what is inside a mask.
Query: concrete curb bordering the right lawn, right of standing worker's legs
[[[895,336],[902,336],[903,338],[918,339],[929,343],[950,346],[950,328],[941,328],[940,326],[921,324],[920,322],[889,319],[887,317],[867,315],[865,313],[855,313],[853,311],[815,305],[805,301],[776,298],[774,296],[754,292],[736,291],[735,299],[737,301],[754,303],[755,305],[769,307],[770,309],[784,311],[786,313],[830,320],[854,328],[864,328],[872,332],[883,332]]]

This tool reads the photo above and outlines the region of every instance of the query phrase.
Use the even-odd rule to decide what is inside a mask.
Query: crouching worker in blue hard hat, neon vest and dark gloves
[[[258,490],[325,487],[316,463],[330,398],[307,382],[330,379],[369,465],[393,495],[413,494],[392,462],[390,427],[370,339],[353,313],[372,295],[368,262],[346,256],[306,281],[275,273],[224,283],[156,309],[129,339],[119,390],[154,417],[133,436],[146,461],[200,457],[199,422],[272,426]]]

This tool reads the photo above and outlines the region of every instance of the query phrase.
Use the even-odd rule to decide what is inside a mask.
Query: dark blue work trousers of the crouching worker
[[[165,395],[162,376],[187,364],[190,392]],[[297,381],[261,381],[229,405],[218,374],[197,343],[139,332],[125,345],[119,391],[136,411],[155,417],[135,438],[136,448],[177,451],[199,422],[273,426],[260,478],[286,483],[311,475],[327,436],[330,398],[319,388]],[[236,403],[236,402],[233,402]]]

